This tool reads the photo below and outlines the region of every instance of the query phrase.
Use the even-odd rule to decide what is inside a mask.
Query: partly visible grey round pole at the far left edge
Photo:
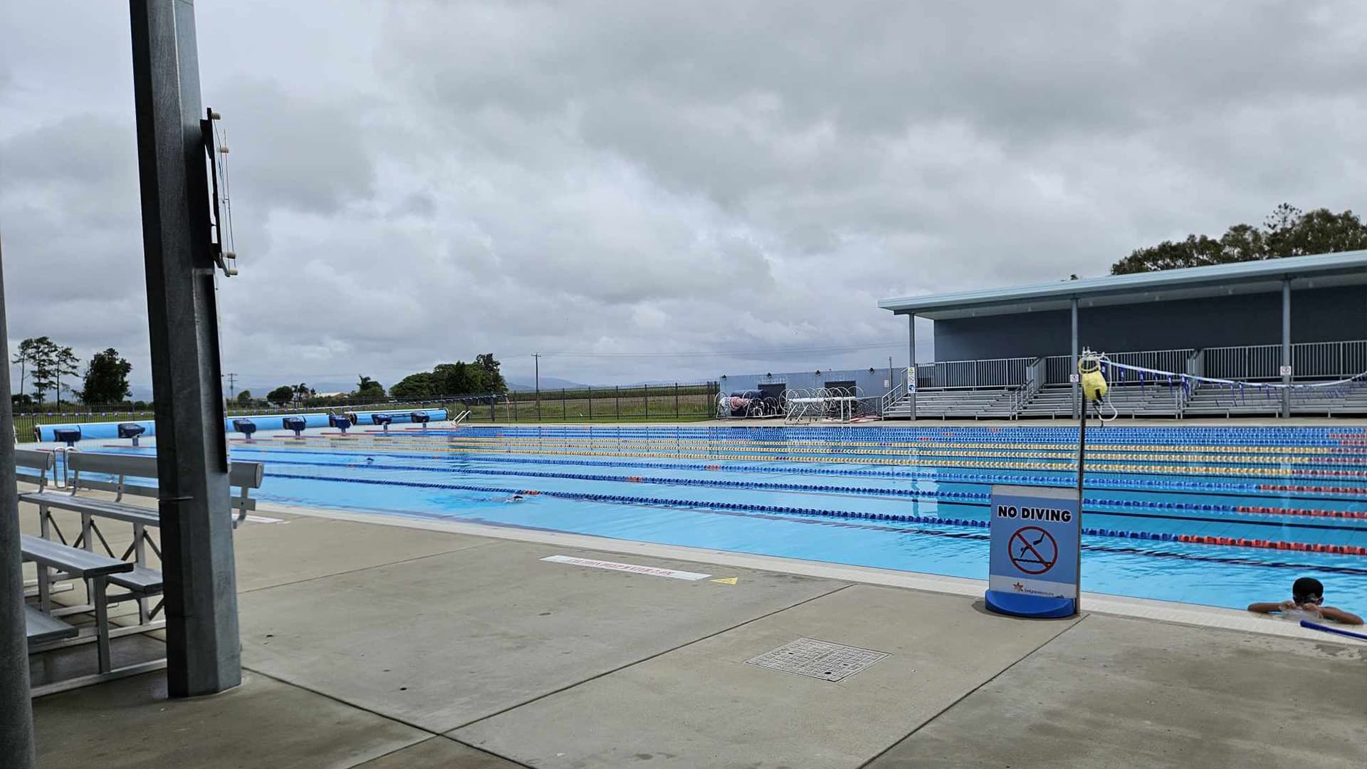
[[[10,360],[0,271],[0,350]],[[10,391],[10,367],[0,365]],[[29,640],[23,623],[23,556],[19,550],[19,490],[14,478],[14,412],[0,404],[0,766],[33,769],[33,703],[29,701]]]

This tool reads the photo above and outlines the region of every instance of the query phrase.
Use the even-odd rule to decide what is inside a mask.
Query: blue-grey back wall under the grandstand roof
[[[1080,308],[1079,342],[1094,350],[1172,350],[1281,343],[1281,294],[1241,294]],[[1292,342],[1367,339],[1367,289],[1290,294]],[[935,322],[936,360],[1070,354],[1068,311]]]

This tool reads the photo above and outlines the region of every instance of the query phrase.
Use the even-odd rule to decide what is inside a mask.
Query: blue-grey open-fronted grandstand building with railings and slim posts
[[[919,390],[1066,384],[1083,348],[1162,371],[1249,382],[1367,371],[1367,252],[1360,250],[889,298],[879,307],[908,316],[910,349],[910,319],[935,322],[938,360],[917,364]],[[916,395],[908,400],[915,415]]]

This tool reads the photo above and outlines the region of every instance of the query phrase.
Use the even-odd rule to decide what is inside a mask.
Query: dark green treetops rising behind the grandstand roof
[[[1180,242],[1163,241],[1155,246],[1135,249],[1111,265],[1111,274],[1125,275],[1357,249],[1367,249],[1367,227],[1352,211],[1334,213],[1327,208],[1316,208],[1303,212],[1284,203],[1263,220],[1260,229],[1234,224],[1218,239],[1187,235],[1187,239]]]

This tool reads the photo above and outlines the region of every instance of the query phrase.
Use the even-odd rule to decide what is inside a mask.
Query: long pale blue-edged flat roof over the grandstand
[[[1258,294],[1280,291],[1282,281],[1288,279],[1293,290],[1367,283],[1367,250],[1289,256],[1132,275],[1106,275],[1012,289],[890,298],[880,300],[878,307],[890,309],[895,315],[919,315],[932,320],[949,320],[1068,309],[1074,297],[1079,307],[1105,307]]]

